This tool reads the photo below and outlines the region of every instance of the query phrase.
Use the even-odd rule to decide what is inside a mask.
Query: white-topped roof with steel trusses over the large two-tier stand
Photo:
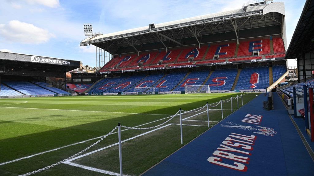
[[[117,52],[120,48],[128,47],[131,52],[139,52],[148,50],[147,47],[143,46],[152,43],[160,44],[160,47],[154,49],[167,49],[188,44],[213,42],[212,39],[208,38],[220,33],[232,33],[232,37],[229,34],[222,40],[247,38],[251,35],[241,34],[241,30],[276,25],[281,26],[281,31],[276,34],[282,34],[284,15],[284,3],[282,2],[255,1],[243,6],[243,8],[227,12],[150,24],[145,27],[110,34],[94,35],[84,39],[81,46],[93,44],[111,54],[121,54],[123,51]],[[264,31],[264,33],[268,35],[267,32]],[[185,39],[192,39],[193,41],[185,41]]]

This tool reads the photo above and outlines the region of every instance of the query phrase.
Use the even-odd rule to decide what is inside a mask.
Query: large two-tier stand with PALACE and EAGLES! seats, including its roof
[[[96,34],[81,42],[90,44],[113,59],[85,93],[132,94],[136,87],[183,92],[185,85],[265,91],[287,75],[282,2],[255,1],[236,10]]]

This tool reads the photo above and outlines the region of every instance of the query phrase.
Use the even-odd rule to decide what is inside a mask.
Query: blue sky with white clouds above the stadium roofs
[[[289,44],[305,0],[281,2]],[[241,8],[244,3],[247,0],[1,0],[0,51],[81,60],[94,67],[95,47],[79,46],[85,38],[83,23],[106,34]]]

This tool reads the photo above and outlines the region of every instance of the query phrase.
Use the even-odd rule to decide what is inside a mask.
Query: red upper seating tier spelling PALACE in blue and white
[[[156,67],[171,67],[179,65],[199,65],[210,64],[215,62],[233,62],[263,58],[278,58],[285,56],[284,43],[281,38],[273,39],[274,53],[270,52],[270,39],[255,39],[252,41],[240,42],[238,52],[236,52],[236,43],[227,44],[203,44],[201,48],[173,48],[168,52],[165,50],[155,50],[150,52],[119,55],[104,65],[99,72],[120,71],[128,69],[146,69]],[[259,51],[258,56],[253,56],[253,51]],[[219,55],[218,60],[214,60],[214,56]],[[262,57],[263,56],[263,57]],[[193,57],[193,60],[189,60]],[[139,65],[142,63],[142,65]],[[159,64],[159,65],[158,65]]]

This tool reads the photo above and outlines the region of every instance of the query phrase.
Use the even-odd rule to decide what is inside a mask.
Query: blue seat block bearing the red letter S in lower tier
[[[209,85],[211,91],[219,90],[231,90],[232,85],[235,82],[237,69],[222,69],[215,70],[209,77],[206,85]]]

